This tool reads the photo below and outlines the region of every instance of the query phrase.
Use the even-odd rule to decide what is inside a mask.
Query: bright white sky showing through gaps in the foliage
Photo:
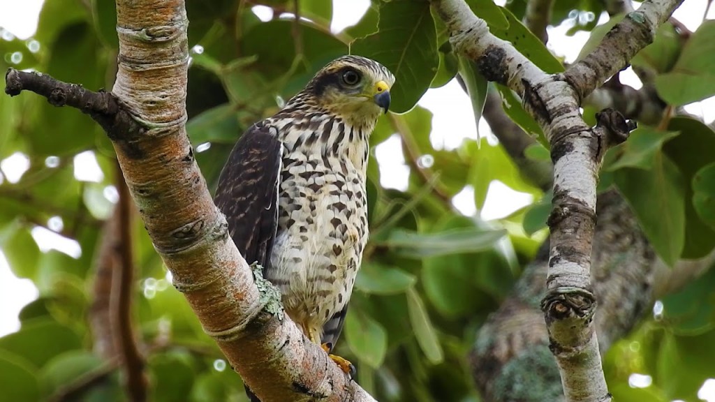
[[[503,5],[503,0],[495,1]],[[6,29],[0,33],[13,34],[20,39],[27,39],[36,30],[37,16],[41,9],[43,0],[0,0],[0,27]],[[346,26],[351,26],[359,21],[364,14],[370,0],[333,0],[334,20],[331,29],[340,31]],[[636,4],[637,6],[638,4]],[[685,24],[689,29],[695,30],[701,23],[706,0],[688,0],[678,9],[674,16]],[[255,7],[257,14],[262,17],[270,15],[262,13],[260,7]],[[709,19],[715,18],[715,7],[709,11]],[[580,31],[573,36],[566,36],[565,33],[570,26],[558,26],[549,30],[549,47],[560,56],[565,56],[567,62],[573,61],[578,55],[578,51],[588,39],[586,32]],[[563,53],[565,52],[565,53]],[[626,84],[640,87],[640,82],[632,72],[621,74],[621,79]],[[467,95],[456,82],[451,82],[438,89],[430,89],[425,96],[420,99],[420,106],[430,109],[433,112],[433,132],[430,140],[436,148],[454,149],[459,147],[464,138],[476,138],[474,116]],[[686,106],[686,109],[693,113],[704,116],[706,122],[715,120],[715,97],[706,99]],[[488,125],[480,121],[480,133],[488,135],[490,130]],[[385,187],[405,189],[407,185],[408,167],[403,160],[403,153],[400,146],[400,139],[393,136],[375,149],[375,155],[380,160],[380,173],[382,184]],[[21,174],[29,167],[29,161],[24,155],[13,155],[0,162],[0,184],[4,180],[16,182]],[[75,174],[78,180],[95,182],[101,180],[102,172],[99,170],[97,160],[92,152],[84,152],[74,160]],[[46,161],[49,165],[49,161]],[[98,180],[99,177],[99,180]],[[111,194],[105,197],[112,199]],[[116,202],[116,200],[114,200]],[[509,215],[524,205],[532,202],[531,195],[511,190],[501,182],[492,182],[480,216],[485,220],[496,219]],[[453,203],[455,207],[465,215],[476,213],[473,202],[473,189],[468,186],[455,196]],[[57,226],[57,220],[50,222]],[[61,227],[61,219],[59,220]],[[58,248],[65,253],[79,258],[82,250],[79,245],[68,239],[56,235],[49,230],[33,230],[33,236],[38,242],[41,250]],[[30,280],[19,280],[10,271],[4,255],[0,252],[0,336],[14,332],[19,328],[17,314],[19,310],[37,298],[38,292]],[[640,377],[638,377],[640,378]],[[637,383],[637,381],[636,381]],[[710,388],[714,388],[711,381]],[[637,385],[636,385],[637,386]],[[705,388],[705,387],[704,387]],[[703,390],[701,390],[703,391]],[[715,402],[715,391],[701,396],[707,401]],[[709,398],[706,398],[709,397]]]

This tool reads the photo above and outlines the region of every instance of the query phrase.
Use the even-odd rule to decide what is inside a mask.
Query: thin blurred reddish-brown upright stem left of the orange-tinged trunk
[[[132,293],[134,293],[132,200],[129,189],[124,183],[122,171],[119,169],[117,169],[116,183],[119,192],[117,204],[119,242],[116,243],[117,249],[114,252],[119,261],[114,264],[109,310],[115,349],[122,359],[127,393],[132,401],[142,402],[147,400],[147,378],[144,376],[144,358],[139,353],[132,325]]]

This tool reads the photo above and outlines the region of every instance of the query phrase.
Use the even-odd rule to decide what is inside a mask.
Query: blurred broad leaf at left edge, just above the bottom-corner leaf
[[[16,333],[0,338],[0,350],[16,353],[36,367],[68,350],[82,348],[79,335],[60,323],[47,318],[23,323]]]

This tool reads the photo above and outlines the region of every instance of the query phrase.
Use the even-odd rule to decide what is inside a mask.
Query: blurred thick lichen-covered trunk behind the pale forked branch
[[[715,252],[668,268],[657,258],[633,212],[616,192],[598,199],[593,239],[593,292],[601,352],[630,332],[651,305],[701,275]],[[558,368],[539,311],[548,270],[548,241],[524,271],[509,298],[477,335],[470,363],[485,402],[563,401]]]

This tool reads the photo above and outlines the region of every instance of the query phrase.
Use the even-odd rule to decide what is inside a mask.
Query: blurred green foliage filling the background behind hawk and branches
[[[187,0],[187,129],[199,166],[213,190],[240,133],[276,112],[277,99],[295,94],[348,49],[390,67],[397,76],[395,111],[402,114],[381,119],[370,141],[375,146],[398,133],[410,168],[408,188],[380,185],[378,161],[371,157],[372,236],[337,353],[356,363],[358,381],[380,401],[478,401],[465,356],[544,239],[551,195],[526,182],[500,145],[484,140],[478,147],[478,139],[466,139],[456,149],[440,149],[430,142],[431,113],[415,107],[430,87],[460,72],[476,116],[493,89],[473,64],[453,54],[444,24],[426,1],[373,0],[358,24],[337,33],[330,31],[331,1],[298,3],[298,14],[310,21],[281,16],[295,13],[292,1],[252,1],[274,10],[270,21],[261,21],[245,2]],[[468,4],[539,67],[563,71],[519,22],[525,1],[509,1],[506,8],[490,0]],[[571,33],[593,31],[596,40],[605,34],[596,28],[600,4],[556,1],[552,20],[571,24]],[[32,68],[90,89],[111,88],[115,13],[113,1],[46,0],[33,38],[0,35],[0,71]],[[714,29],[703,24],[686,40],[664,26],[633,65],[655,74],[659,94],[674,106],[712,96],[715,52],[708,49]],[[544,144],[518,96],[496,89],[508,115]],[[641,127],[608,152],[601,187],[618,187],[656,252],[671,265],[715,247],[713,149],[710,127],[676,117]],[[87,151],[102,170],[98,182],[74,175],[74,157]],[[19,332],[0,338],[4,398],[45,400],[94,377],[98,381],[84,388],[82,401],[123,401],[121,376],[92,352],[96,340],[88,324],[102,223],[116,197],[112,146],[84,114],[29,94],[0,96],[0,160],[16,152],[29,158],[29,170],[19,182],[0,181],[0,247],[15,275],[32,280],[40,298],[22,310]],[[543,160],[548,152],[537,144],[526,156]],[[420,172],[425,157],[430,164]],[[461,215],[448,201],[469,187],[480,210],[493,180],[528,192],[535,202],[483,222]],[[53,217],[62,224],[52,225]],[[134,318],[147,352],[152,400],[245,401],[240,379],[170,286],[142,223],[134,225]],[[75,240],[82,255],[40,250],[31,235],[37,227]],[[619,401],[694,400],[704,379],[715,377],[709,358],[715,353],[714,278],[704,275],[664,299],[664,313],[644,320],[611,348],[604,366]],[[647,374],[653,384],[631,388],[631,373]]]

